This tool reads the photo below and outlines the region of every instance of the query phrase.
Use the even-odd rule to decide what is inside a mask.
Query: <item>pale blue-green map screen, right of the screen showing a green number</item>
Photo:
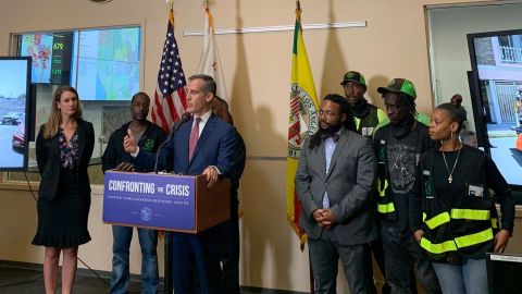
[[[83,100],[128,100],[139,91],[140,28],[75,33],[71,77]]]

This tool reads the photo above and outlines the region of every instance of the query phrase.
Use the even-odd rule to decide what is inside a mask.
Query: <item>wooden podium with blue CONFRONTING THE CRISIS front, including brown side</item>
[[[197,234],[229,219],[229,180],[107,171],[103,222]]]

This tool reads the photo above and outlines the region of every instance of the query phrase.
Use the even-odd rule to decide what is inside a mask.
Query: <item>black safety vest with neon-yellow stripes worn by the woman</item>
[[[493,248],[498,231],[492,192],[481,186],[486,183],[484,154],[471,147],[463,148],[460,160],[474,166],[470,172],[459,174],[459,177],[465,179],[455,184],[452,197],[439,197],[433,187],[433,158],[438,151],[431,150],[421,159],[424,235],[420,245],[431,260],[459,264],[462,257],[482,258],[484,253]],[[435,172],[445,174],[444,170]]]

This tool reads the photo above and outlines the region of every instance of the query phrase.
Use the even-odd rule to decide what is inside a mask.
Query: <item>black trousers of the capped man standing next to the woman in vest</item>
[[[421,247],[410,231],[402,232],[398,228],[397,221],[384,220],[381,233],[385,253],[386,279],[391,286],[393,294],[414,293],[415,284],[410,278],[415,262],[417,279],[423,286],[424,293],[442,293],[432,264],[422,257]]]

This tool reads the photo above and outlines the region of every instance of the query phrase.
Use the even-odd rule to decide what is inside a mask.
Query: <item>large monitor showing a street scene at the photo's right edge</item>
[[[480,145],[522,189],[522,29],[468,35],[473,119]]]

